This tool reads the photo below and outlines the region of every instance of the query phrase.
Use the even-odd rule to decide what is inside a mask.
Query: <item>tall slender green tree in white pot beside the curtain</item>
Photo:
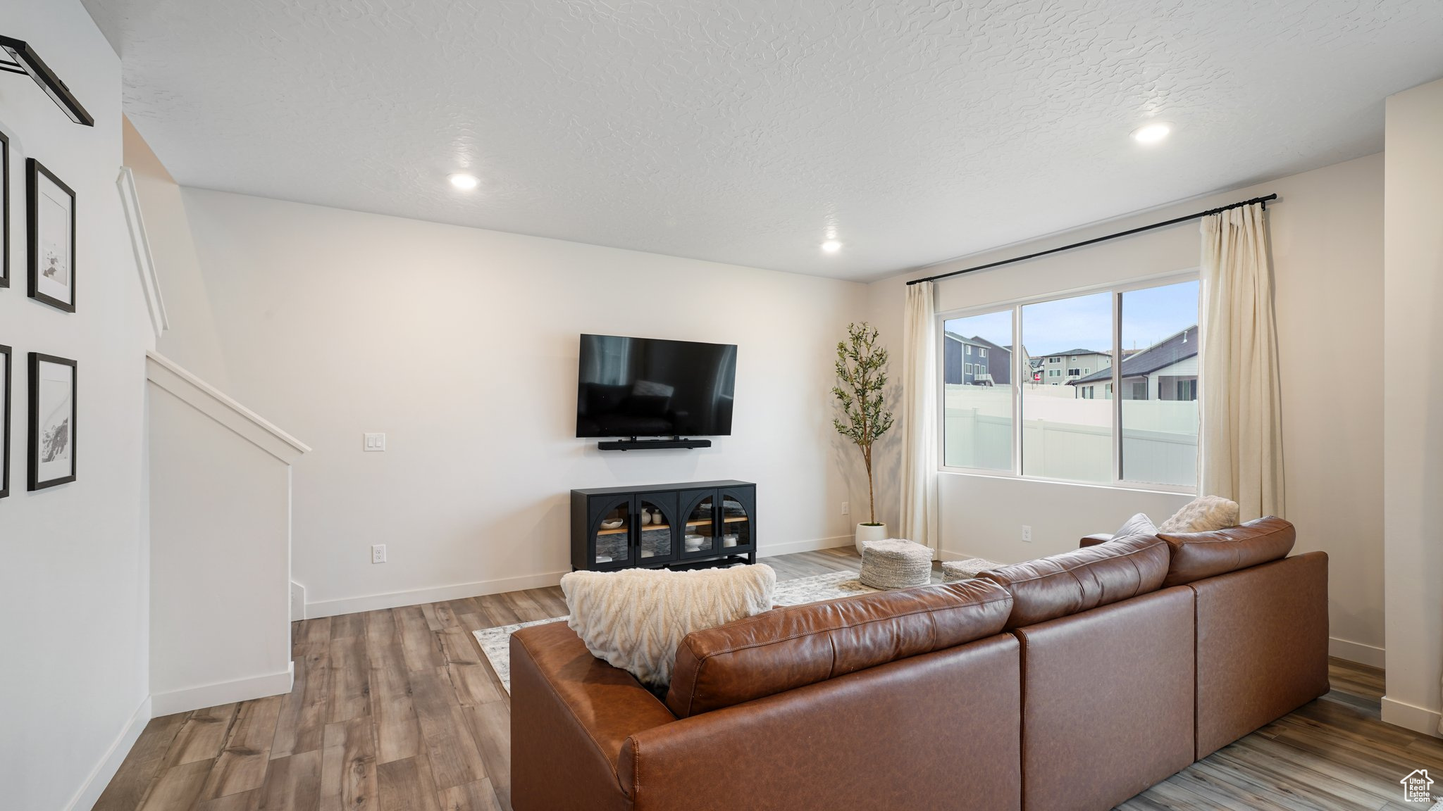
[[[892,429],[892,411],[886,407],[887,349],[877,346],[877,329],[867,322],[847,325],[847,339],[837,342],[837,385],[831,388],[841,416],[831,424],[837,433],[861,450],[867,469],[867,521],[857,524],[857,551],[863,540],[880,540],[886,524],[877,521],[876,495],[872,483],[872,444]]]

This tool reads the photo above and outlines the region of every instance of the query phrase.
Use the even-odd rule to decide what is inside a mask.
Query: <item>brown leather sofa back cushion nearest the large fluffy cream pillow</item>
[[[962,580],[789,606],[696,631],[677,646],[678,719],[952,648],[1003,629],[1012,596]]]

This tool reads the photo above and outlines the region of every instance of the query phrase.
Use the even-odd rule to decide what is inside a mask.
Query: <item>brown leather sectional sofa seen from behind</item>
[[[665,701],[518,631],[512,807],[1104,810],[1328,691],[1291,524],[1089,537],[977,580],[687,636]]]

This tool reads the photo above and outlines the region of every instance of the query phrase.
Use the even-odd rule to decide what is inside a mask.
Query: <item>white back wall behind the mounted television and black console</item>
[[[831,429],[864,287],[185,189],[228,394],[313,447],[294,580],[336,613],[554,583],[569,492],[758,483],[762,553],[844,545],[864,498]],[[577,335],[739,345],[733,436],[707,450],[574,439]],[[384,431],[385,453],[361,434]],[[863,495],[856,495],[863,494]],[[387,544],[390,561],[369,563]]]

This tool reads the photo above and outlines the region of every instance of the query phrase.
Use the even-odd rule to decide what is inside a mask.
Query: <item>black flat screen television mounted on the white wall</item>
[[[736,346],[583,335],[576,436],[730,436]]]

